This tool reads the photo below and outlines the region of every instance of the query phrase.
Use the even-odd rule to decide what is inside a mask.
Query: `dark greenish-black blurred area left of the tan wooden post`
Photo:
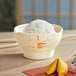
[[[13,31],[16,26],[15,0],[0,0],[0,31]]]

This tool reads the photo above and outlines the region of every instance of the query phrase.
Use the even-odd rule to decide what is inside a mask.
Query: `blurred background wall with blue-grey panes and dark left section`
[[[22,23],[44,19],[76,29],[76,0],[0,0],[0,31],[13,31]]]

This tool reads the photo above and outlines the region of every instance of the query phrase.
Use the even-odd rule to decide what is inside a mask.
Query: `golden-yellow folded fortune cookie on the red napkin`
[[[46,70],[47,74],[53,74],[55,72],[58,73],[58,76],[65,76],[65,74],[68,72],[67,64],[60,58],[55,59]]]

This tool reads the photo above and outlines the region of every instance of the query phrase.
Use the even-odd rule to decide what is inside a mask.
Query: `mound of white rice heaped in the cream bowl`
[[[54,34],[56,33],[54,30],[53,24],[48,23],[45,20],[34,20],[28,24],[25,28],[24,33],[28,34]]]

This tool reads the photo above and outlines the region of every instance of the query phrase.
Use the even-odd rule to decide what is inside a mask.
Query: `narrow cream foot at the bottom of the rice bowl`
[[[52,58],[54,55],[54,50],[46,51],[46,52],[29,52],[29,53],[23,53],[23,56],[29,59],[48,59]]]

